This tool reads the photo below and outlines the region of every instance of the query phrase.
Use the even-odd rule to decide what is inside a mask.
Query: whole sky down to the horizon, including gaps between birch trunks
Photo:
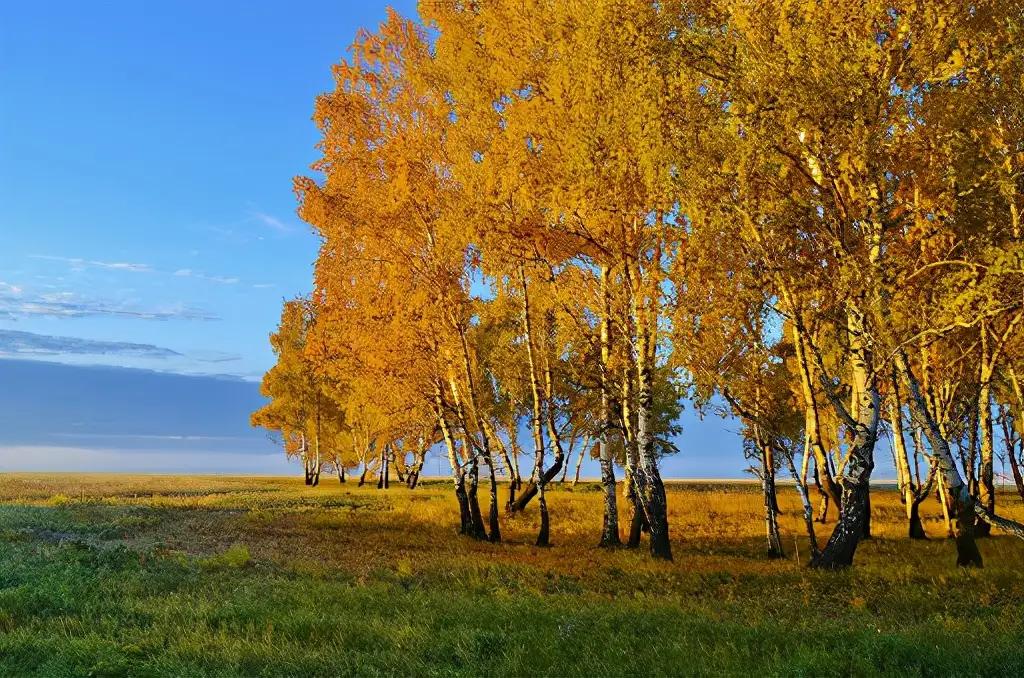
[[[292,177],[316,158],[313,99],[385,7],[5,3],[0,361],[258,380],[282,298],[311,283],[317,243],[295,216]],[[255,384],[0,367],[22,384],[4,407],[0,470],[291,472],[248,428]],[[197,423],[210,413],[219,428]],[[667,475],[741,474],[734,422],[687,410],[683,425]]]

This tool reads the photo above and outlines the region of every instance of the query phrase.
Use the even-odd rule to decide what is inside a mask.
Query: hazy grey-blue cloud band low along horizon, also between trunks
[[[249,426],[249,413],[264,401],[253,381],[0,357],[0,472],[301,473],[265,431]],[[679,454],[663,463],[667,479],[751,477],[738,422],[701,419],[687,404],[682,426]],[[520,438],[528,449],[527,432]],[[569,463],[571,476],[574,455]],[[876,464],[878,480],[895,476],[885,440]],[[447,473],[437,449],[424,473]],[[597,462],[588,459],[581,475],[596,478]]]

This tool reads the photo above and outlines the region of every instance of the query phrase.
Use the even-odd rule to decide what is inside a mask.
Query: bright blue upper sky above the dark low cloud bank
[[[0,354],[257,379],[280,300],[310,286],[316,242],[292,177],[316,157],[313,98],[384,14],[5,3],[0,332],[19,334],[0,335]]]

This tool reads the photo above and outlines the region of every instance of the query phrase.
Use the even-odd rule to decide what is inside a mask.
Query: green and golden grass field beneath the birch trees
[[[848,571],[763,555],[757,486],[679,484],[675,561],[593,547],[595,485],[556,488],[506,543],[455,534],[447,483],[0,475],[3,675],[1020,675],[1024,542],[954,566],[904,538],[895,493]],[[1000,496],[1005,513],[1024,507]],[[819,527],[823,543],[828,528]]]

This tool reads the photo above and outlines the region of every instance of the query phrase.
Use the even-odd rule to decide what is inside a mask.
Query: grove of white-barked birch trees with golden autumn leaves
[[[887,449],[910,538],[935,492],[958,564],[1024,537],[997,492],[1024,498],[1019,3],[420,14],[334,67],[295,180],[321,251],[253,423],[308,483],[415,489],[439,454],[461,534],[536,510],[548,546],[552,483],[593,459],[594,543],[672,559],[685,407],[741,423],[770,556],[781,472],[810,564],[853,564]]]

